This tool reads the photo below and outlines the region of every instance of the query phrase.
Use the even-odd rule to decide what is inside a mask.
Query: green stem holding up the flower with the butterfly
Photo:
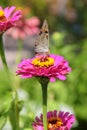
[[[47,85],[46,83],[42,83],[42,100],[43,100],[43,124],[44,130],[47,130]]]

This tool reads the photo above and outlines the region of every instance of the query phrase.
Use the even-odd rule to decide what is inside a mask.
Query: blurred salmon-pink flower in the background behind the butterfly
[[[39,32],[39,24],[40,20],[35,16],[31,18],[22,17],[16,27],[7,31],[7,35],[11,35],[14,39],[24,39],[27,35],[37,34]]]

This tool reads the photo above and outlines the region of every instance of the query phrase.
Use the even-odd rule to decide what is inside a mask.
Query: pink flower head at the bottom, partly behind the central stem
[[[70,130],[72,124],[75,122],[73,114],[64,111],[49,111],[47,113],[47,129],[48,130]],[[33,130],[44,130],[43,115],[36,117],[32,123]]]

